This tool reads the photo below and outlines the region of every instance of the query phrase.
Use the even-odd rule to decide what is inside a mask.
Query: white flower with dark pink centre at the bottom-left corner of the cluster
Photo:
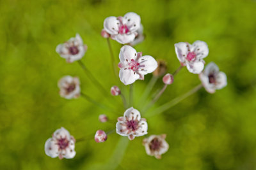
[[[57,129],[53,134],[52,138],[47,139],[45,142],[44,150],[45,154],[49,157],[60,159],[72,159],[76,155],[75,142],[73,136],[70,136],[69,132],[64,128]]]

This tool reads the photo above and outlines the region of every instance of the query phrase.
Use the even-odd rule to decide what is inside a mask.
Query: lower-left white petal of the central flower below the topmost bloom
[[[131,69],[120,69],[119,71],[119,78],[124,83],[124,85],[129,85],[134,83],[134,81],[140,78],[139,74],[134,74],[134,71]]]

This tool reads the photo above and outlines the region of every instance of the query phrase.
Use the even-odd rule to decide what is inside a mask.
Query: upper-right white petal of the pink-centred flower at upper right
[[[209,54],[207,43],[199,40],[193,43],[191,51],[196,53],[196,59],[204,59]]]

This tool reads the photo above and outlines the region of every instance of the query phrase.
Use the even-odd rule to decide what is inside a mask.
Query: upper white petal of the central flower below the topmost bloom
[[[124,63],[126,65],[127,61],[130,62],[131,59],[135,60],[136,55],[137,55],[137,52],[134,48],[132,48],[129,45],[124,45],[120,49],[119,59],[122,63]]]

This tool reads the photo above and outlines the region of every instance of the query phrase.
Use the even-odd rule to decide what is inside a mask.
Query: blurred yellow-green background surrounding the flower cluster
[[[256,169],[256,1],[0,1],[0,169]],[[141,16],[146,39],[138,52],[179,67],[174,43],[202,40],[209,45],[205,62],[214,61],[228,77],[228,86],[215,94],[201,89],[148,121],[148,135],[167,134],[170,148],[161,160],[145,153],[142,139],[110,134],[95,143],[98,129],[115,128],[122,105],[100,94],[77,62],[67,64],[55,48],[79,32],[88,45],[83,62],[110,89],[120,85],[110,62],[106,39],[100,36],[104,18],[134,11]],[[111,41],[118,60],[121,45]],[[119,115],[101,110],[82,97],[58,95],[61,76],[79,76],[85,94]],[[134,84],[134,108],[152,74]],[[200,83],[182,69],[154,107]],[[122,86],[122,85],[121,85]],[[152,94],[163,83],[157,81]],[[127,87],[123,88],[127,94]],[[120,102],[120,98],[117,96]],[[101,124],[106,113],[113,123]],[[145,116],[146,117],[146,116]],[[147,118],[147,117],[146,117]],[[44,143],[65,127],[76,138],[74,159],[52,159]],[[126,148],[127,145],[127,148]],[[126,150],[125,150],[126,148]]]

